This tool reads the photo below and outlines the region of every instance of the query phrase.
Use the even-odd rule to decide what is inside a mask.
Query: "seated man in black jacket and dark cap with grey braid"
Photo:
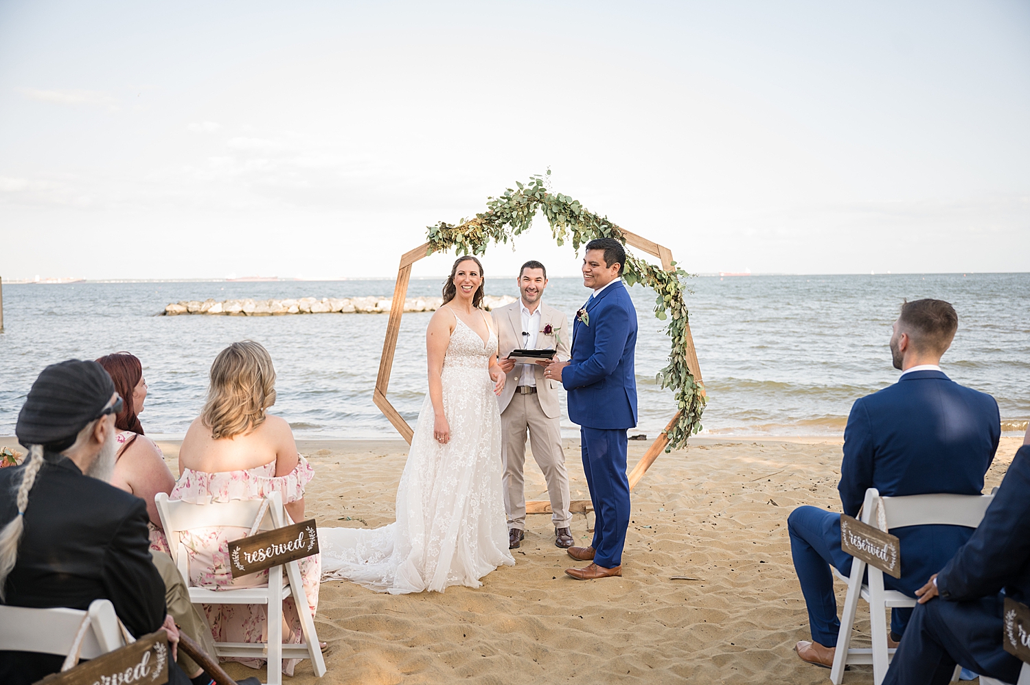
[[[15,426],[29,454],[21,466],[0,470],[0,601],[85,610],[94,600],[110,600],[133,636],[164,627],[174,650],[178,631],[150,561],[146,506],[105,482],[122,406],[96,362],[48,366],[33,383]],[[34,683],[63,661],[0,651],[0,683]],[[170,683],[190,682],[175,663],[168,675]]]

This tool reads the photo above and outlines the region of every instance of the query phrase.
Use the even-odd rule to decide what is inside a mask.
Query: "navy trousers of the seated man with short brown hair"
[[[850,576],[853,558],[840,549],[840,514],[818,507],[798,507],[787,518],[787,532],[794,571],[809,608],[812,640],[824,647],[836,647],[840,619],[836,615],[830,566]],[[884,587],[897,589],[893,580],[884,574]],[[902,635],[911,616],[912,609],[892,609],[891,632]]]

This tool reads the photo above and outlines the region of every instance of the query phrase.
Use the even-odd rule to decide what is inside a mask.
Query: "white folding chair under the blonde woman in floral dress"
[[[271,530],[287,525],[282,498],[273,492],[265,498],[269,502],[268,511],[262,517],[259,530]],[[179,533],[193,528],[236,526],[250,528],[262,509],[265,500],[236,500],[226,503],[197,505],[188,502],[169,500],[164,492],[158,492],[154,502],[161,516],[161,525],[168,537],[168,546],[179,573],[190,586],[190,600],[194,604],[262,604],[266,605],[268,619],[268,643],[216,642],[218,656],[240,656],[268,660],[269,685],[281,685],[282,659],[311,659],[315,676],[325,674],[325,660],[318,645],[318,633],[308,607],[301,580],[301,569],[297,561],[275,566],[268,570],[268,587],[246,587],[240,589],[209,590],[193,587],[190,583],[190,559],[185,546],[179,541]],[[282,567],[286,567],[289,582],[282,584]],[[282,644],[282,601],[293,595],[297,613],[301,618],[304,642],[298,645]]]

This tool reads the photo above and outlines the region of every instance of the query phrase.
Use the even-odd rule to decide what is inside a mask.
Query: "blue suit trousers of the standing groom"
[[[605,569],[622,564],[629,527],[629,480],[626,478],[626,430],[580,427],[583,471],[593,503],[593,562]]]

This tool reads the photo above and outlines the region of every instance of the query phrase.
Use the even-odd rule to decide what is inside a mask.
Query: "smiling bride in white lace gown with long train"
[[[508,551],[501,488],[505,374],[497,337],[479,304],[483,268],[459,258],[444,306],[425,332],[430,392],[397,489],[397,521],[381,528],[320,528],[322,579],[404,594],[479,587]]]

